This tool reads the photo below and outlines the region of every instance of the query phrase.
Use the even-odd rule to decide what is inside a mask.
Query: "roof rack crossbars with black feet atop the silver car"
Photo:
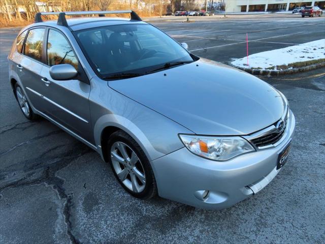
[[[137,15],[136,12],[132,10],[121,10],[121,11],[79,11],[79,12],[40,12],[35,15],[35,23],[43,22],[42,15],[58,15],[57,24],[62,26],[67,26],[68,22],[66,15],[87,15],[87,14],[98,14],[100,17],[105,16],[105,14],[131,14],[131,20],[142,21],[142,19]]]

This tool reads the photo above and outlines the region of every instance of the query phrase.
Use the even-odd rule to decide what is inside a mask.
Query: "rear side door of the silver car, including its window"
[[[43,45],[45,38],[45,27],[31,28],[28,31],[22,55],[17,59],[17,73],[21,80],[24,90],[32,106],[43,112],[43,99],[41,97],[44,82],[41,80],[40,73],[43,68],[44,60]]]

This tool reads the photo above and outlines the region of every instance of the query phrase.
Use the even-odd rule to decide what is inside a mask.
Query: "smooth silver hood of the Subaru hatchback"
[[[108,85],[201,135],[247,135],[275,123],[285,107],[271,85],[204,58]]]

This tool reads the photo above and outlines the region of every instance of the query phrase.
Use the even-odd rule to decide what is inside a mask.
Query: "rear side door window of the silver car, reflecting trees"
[[[31,29],[25,43],[25,55],[42,60],[44,28]]]

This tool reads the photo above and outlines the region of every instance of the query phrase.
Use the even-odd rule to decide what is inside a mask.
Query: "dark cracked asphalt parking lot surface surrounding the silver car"
[[[149,21],[226,64],[246,55],[246,33],[250,54],[325,38],[325,17],[190,19]],[[8,79],[18,31],[0,29],[0,243],[324,243],[325,69],[261,77],[295,113],[289,160],[263,191],[211,211],[132,198],[92,149],[45,119],[28,121]]]

